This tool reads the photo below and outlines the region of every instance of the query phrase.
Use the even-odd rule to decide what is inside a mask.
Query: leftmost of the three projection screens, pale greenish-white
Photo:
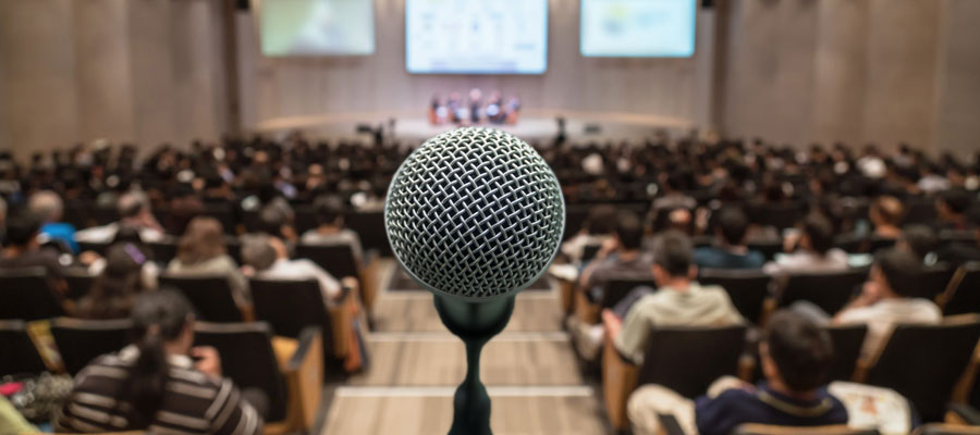
[[[261,0],[258,7],[265,55],[375,52],[372,0]]]

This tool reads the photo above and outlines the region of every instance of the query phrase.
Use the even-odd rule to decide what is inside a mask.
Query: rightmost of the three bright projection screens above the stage
[[[581,55],[694,55],[696,0],[581,0]]]

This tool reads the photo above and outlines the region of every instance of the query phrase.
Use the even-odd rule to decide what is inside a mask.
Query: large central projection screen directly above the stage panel
[[[406,0],[405,66],[420,74],[542,74],[548,0]]]

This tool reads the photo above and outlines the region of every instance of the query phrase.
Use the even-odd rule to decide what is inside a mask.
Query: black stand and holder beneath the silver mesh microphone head
[[[514,294],[490,301],[467,301],[434,294],[439,319],[466,345],[466,378],[453,397],[453,426],[449,435],[492,435],[490,396],[480,382],[480,351],[503,331],[514,312]]]

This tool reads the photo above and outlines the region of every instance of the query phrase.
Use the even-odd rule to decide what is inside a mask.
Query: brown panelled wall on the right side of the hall
[[[728,135],[980,145],[980,2],[734,0],[727,20]]]

